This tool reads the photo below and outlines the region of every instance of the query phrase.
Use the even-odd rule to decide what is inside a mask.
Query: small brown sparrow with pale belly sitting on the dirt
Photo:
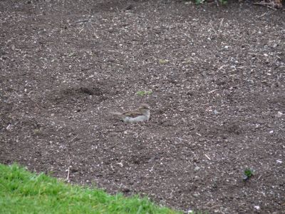
[[[150,106],[143,103],[138,109],[132,111],[120,112],[110,112],[112,114],[120,116],[125,123],[135,123],[141,121],[148,121],[150,119]]]

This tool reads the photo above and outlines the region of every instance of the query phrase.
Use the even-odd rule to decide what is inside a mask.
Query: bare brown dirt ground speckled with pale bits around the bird
[[[0,1],[0,163],[185,212],[285,213],[284,20],[237,1]],[[146,123],[109,113],[140,103]]]

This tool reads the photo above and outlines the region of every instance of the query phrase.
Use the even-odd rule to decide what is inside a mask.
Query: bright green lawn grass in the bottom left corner
[[[0,213],[178,213],[138,195],[108,195],[0,164]]]

